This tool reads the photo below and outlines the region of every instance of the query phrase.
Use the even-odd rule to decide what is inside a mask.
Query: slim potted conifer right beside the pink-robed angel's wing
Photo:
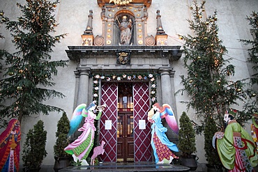
[[[54,171],[56,172],[70,165],[71,156],[64,151],[64,148],[70,143],[68,138],[69,130],[70,120],[66,112],[63,112],[63,115],[57,123],[56,143],[54,145]]]

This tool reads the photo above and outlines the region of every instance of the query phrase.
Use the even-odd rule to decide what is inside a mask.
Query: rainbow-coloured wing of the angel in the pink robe
[[[75,133],[77,128],[79,127],[79,124],[82,122],[82,110],[86,107],[86,104],[79,104],[75,111],[73,111],[73,116],[70,120],[70,130],[68,132],[68,136],[71,136]]]

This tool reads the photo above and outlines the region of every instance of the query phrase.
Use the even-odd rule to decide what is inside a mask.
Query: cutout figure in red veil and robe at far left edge
[[[0,171],[19,171],[20,140],[20,122],[12,119],[0,135]]]

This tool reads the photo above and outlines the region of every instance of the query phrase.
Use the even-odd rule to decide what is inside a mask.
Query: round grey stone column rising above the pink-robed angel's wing
[[[78,69],[79,71],[79,86],[78,86],[78,93],[77,93],[77,105],[88,103],[89,97],[89,69]]]

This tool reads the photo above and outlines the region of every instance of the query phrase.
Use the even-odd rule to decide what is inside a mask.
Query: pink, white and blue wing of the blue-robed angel
[[[160,118],[165,118],[169,127],[176,133],[179,134],[179,126],[176,123],[174,112],[169,104],[162,104],[163,110],[160,111]]]

